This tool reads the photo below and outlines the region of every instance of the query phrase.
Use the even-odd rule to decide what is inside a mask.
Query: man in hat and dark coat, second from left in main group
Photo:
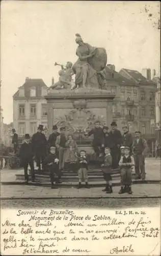
[[[44,159],[45,159],[46,150],[47,150],[47,140],[46,140],[45,134],[43,134],[42,131],[43,131],[43,125],[40,124],[38,126],[37,133],[35,133],[32,137],[34,155],[36,158],[36,164],[37,164],[38,170],[41,170],[41,163],[42,163],[42,170],[44,168]]]

